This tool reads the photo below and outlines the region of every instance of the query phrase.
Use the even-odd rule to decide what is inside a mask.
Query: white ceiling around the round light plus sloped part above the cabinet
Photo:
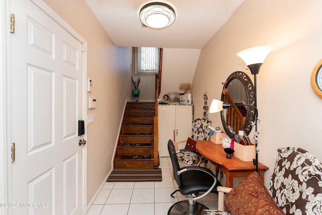
[[[85,0],[96,15],[103,28],[110,36],[114,45],[128,47],[162,47],[177,49],[178,52],[193,52],[193,49],[202,47],[213,37],[221,26],[229,19],[233,12],[244,0],[168,0],[163,2],[172,6],[176,11],[175,22],[165,29],[153,30],[142,27],[139,20],[139,11],[142,6],[153,2],[148,0]],[[186,51],[185,51],[186,49]],[[188,50],[191,49],[191,50]],[[166,53],[166,52],[165,52]],[[163,69],[163,77],[172,77],[175,65],[176,76],[185,77],[184,82],[192,83],[199,54],[188,55],[182,60],[182,66],[178,60],[170,58],[165,62],[169,70]],[[178,53],[177,56],[181,56]],[[185,62],[195,62],[190,69]],[[168,86],[179,86],[183,80],[162,79],[162,91],[179,90],[170,89]]]

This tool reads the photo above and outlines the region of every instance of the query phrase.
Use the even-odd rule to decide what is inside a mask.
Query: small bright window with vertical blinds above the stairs
[[[160,48],[134,47],[133,73],[139,76],[154,76],[159,72]]]

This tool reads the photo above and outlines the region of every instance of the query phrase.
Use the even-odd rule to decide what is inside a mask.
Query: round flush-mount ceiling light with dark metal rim
[[[175,10],[170,5],[160,2],[144,5],[139,16],[143,26],[149,28],[165,28],[176,19]]]

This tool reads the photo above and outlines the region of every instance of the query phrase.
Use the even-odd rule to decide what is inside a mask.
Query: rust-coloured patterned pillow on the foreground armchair
[[[239,182],[227,194],[224,204],[232,215],[284,214],[274,202],[257,172]]]

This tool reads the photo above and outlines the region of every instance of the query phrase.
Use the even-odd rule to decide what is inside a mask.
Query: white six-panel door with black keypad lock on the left
[[[12,214],[85,214],[82,44],[29,0],[11,1]]]

